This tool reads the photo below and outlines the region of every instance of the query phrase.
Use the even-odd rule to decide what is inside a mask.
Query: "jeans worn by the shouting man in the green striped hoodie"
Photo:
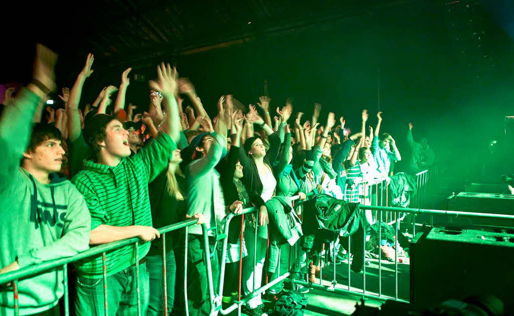
[[[149,273],[146,264],[139,265],[141,314],[146,314],[149,300]],[[77,275],[75,297],[77,316],[104,316],[103,278],[89,279]],[[130,266],[107,277],[107,311],[109,315],[137,315],[136,266]]]

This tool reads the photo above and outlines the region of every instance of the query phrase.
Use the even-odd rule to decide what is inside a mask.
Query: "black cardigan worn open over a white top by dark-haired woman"
[[[264,156],[264,163],[269,166],[271,172],[273,172],[273,162],[277,159],[280,150],[280,137],[277,132],[274,132],[268,136],[269,141],[269,149],[266,151],[266,155]],[[265,202],[261,198],[262,190],[264,186],[261,182],[261,177],[259,176],[259,170],[255,165],[253,159],[248,157],[248,154],[241,147],[237,147],[232,145],[230,147],[230,151],[234,151],[237,155],[237,159],[239,159],[241,165],[243,166],[243,184],[246,187],[246,191],[248,192],[248,196],[250,197],[250,201],[256,207],[261,207]],[[234,166],[235,168],[235,166]],[[227,171],[230,172],[230,171]],[[234,174],[234,170],[232,170],[232,174]]]

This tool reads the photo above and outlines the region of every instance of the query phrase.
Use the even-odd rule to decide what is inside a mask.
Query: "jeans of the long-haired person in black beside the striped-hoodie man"
[[[162,255],[146,255],[146,267],[150,271],[150,301],[148,304],[148,313],[150,315],[164,315],[164,280]],[[173,304],[175,303],[175,280],[176,280],[177,264],[175,262],[175,253],[170,250],[166,253],[166,296],[168,300],[168,314],[172,314]]]

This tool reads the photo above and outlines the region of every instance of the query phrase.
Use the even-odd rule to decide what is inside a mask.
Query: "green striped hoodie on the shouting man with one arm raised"
[[[168,166],[176,144],[168,134],[160,133],[155,142],[141,148],[137,154],[123,158],[116,166],[84,161],[83,169],[72,179],[84,195],[91,214],[91,230],[99,225],[152,226],[148,183]],[[136,263],[134,245],[106,253],[107,275],[115,274]],[[139,259],[150,248],[140,244]],[[100,278],[102,257],[76,263],[79,274],[86,278]]]

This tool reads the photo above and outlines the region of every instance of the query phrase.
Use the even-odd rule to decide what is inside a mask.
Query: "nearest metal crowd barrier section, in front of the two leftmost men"
[[[180,223],[176,223],[173,225],[165,226],[162,228],[159,228],[158,231],[161,234],[162,238],[162,261],[163,261],[163,280],[164,280],[164,288],[163,288],[163,296],[164,296],[164,310],[165,315],[168,315],[167,310],[167,284],[166,284],[166,233],[185,228],[186,233],[186,241],[185,241],[185,260],[184,260],[184,293],[185,293],[185,302],[186,302],[186,313],[187,311],[187,254],[188,254],[188,227],[195,225],[197,223],[197,219],[190,219],[186,220]],[[203,228],[203,234],[204,234],[204,246],[206,249],[206,262],[207,262],[207,272],[209,276],[208,285],[209,285],[209,294],[211,302],[214,301],[214,294],[213,294],[213,284],[212,284],[212,273],[211,273],[211,267],[210,267],[210,260],[209,258],[209,240],[207,236],[207,228],[205,224],[202,224]],[[20,314],[19,310],[19,302],[18,302],[18,284],[20,280],[27,279],[30,277],[34,277],[36,274],[40,274],[43,272],[48,272],[52,270],[61,270],[64,273],[63,283],[64,283],[64,311],[65,315],[69,315],[69,298],[68,298],[68,282],[67,282],[67,264],[73,263],[79,260],[84,260],[87,258],[96,258],[99,255],[102,255],[102,261],[103,261],[103,289],[104,289],[104,306],[105,306],[105,316],[107,316],[107,269],[105,266],[105,253],[114,249],[118,249],[127,245],[134,245],[134,251],[136,255],[136,287],[137,287],[137,314],[138,316],[141,316],[141,298],[139,293],[139,238],[130,238],[130,239],[124,239],[113,243],[108,243],[104,245],[95,246],[93,248],[90,248],[84,252],[81,252],[77,255],[57,259],[57,260],[51,260],[46,261],[41,264],[29,266],[26,268],[22,268],[20,270],[12,271],[5,274],[0,274],[0,284],[6,284],[12,282],[12,291],[14,295],[14,314],[18,316]]]

